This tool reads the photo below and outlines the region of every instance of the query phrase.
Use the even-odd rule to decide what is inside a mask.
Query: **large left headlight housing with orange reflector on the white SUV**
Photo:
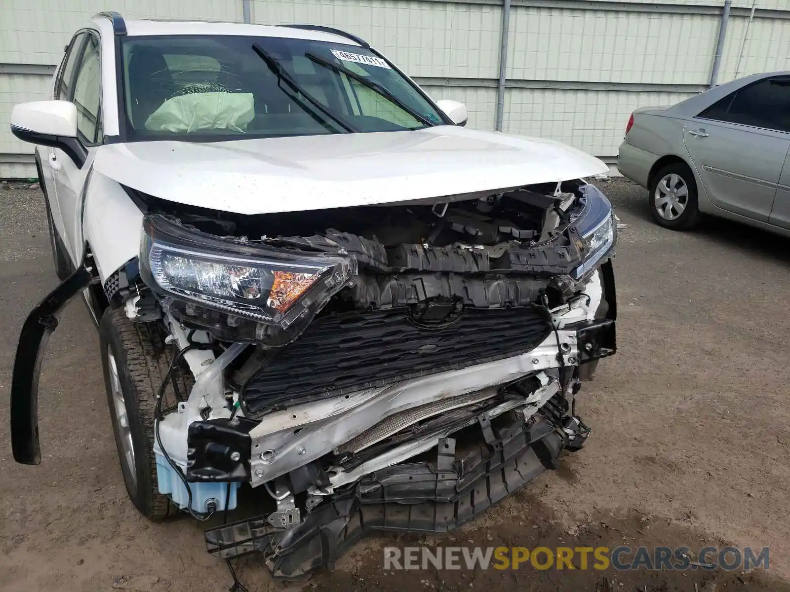
[[[356,274],[352,257],[221,238],[164,215],[146,216],[143,230],[141,278],[163,308],[235,339],[262,341],[297,320],[306,326]]]

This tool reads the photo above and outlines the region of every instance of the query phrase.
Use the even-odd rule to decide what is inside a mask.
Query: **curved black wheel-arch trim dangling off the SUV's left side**
[[[85,253],[88,252],[87,246]],[[52,290],[24,320],[11,379],[11,448],[17,463],[41,463],[39,443],[39,375],[49,335],[58,327],[58,313],[91,282],[83,260],[76,272]]]

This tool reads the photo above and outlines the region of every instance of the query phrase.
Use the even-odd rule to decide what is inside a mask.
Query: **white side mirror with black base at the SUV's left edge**
[[[21,141],[60,148],[82,167],[85,147],[77,141],[77,107],[69,101],[20,103],[11,111],[11,133]]]

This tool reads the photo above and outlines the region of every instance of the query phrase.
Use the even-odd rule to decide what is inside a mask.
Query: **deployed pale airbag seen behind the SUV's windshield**
[[[246,131],[255,116],[250,92],[193,92],[167,99],[145,121],[152,132]]]

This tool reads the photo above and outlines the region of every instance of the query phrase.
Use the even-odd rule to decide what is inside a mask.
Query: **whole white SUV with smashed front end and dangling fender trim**
[[[310,25],[101,13],[52,92],[11,118],[62,280],[17,347],[18,462],[40,463],[40,361],[77,294],[133,504],[205,519],[261,488],[205,538],[277,577],[368,530],[451,530],[584,444],[581,380],[615,352],[600,160],[465,129]]]

